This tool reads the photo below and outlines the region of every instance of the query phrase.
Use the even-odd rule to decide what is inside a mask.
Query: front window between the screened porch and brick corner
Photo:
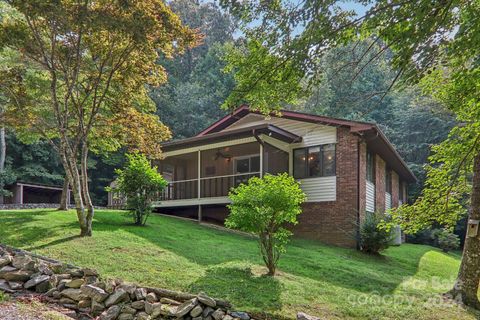
[[[293,176],[296,179],[334,175],[334,144],[293,150]]]

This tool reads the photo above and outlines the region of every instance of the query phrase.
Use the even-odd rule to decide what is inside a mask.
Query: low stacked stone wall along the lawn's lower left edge
[[[246,312],[204,293],[192,295],[160,288],[102,280],[92,269],[45,260],[0,247],[0,290],[35,291],[51,302],[100,320],[250,320]],[[253,319],[252,319],[253,320]]]

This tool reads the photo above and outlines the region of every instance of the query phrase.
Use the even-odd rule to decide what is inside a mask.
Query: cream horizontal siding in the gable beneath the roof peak
[[[249,114],[223,131],[247,128],[264,123],[272,124],[301,136],[302,142],[294,144],[294,148],[337,142],[337,129],[335,127],[279,117],[265,118],[258,114]]]

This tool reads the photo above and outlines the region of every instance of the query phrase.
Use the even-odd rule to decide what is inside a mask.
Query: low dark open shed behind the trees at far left
[[[25,204],[59,204],[63,187],[32,182],[18,181],[5,187],[11,192],[10,196],[0,197],[0,205],[25,205]],[[70,204],[71,190],[67,190],[67,200]]]

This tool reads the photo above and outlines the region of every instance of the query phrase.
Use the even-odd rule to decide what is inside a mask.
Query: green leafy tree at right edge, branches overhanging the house
[[[371,38],[382,44],[378,55],[391,50],[395,68],[391,86],[398,80],[404,84],[426,83],[426,92],[436,96],[461,123],[435,148],[423,195],[412,209],[402,210],[398,219],[404,227],[412,225],[412,229],[434,221],[451,226],[461,216],[463,201],[470,196],[469,217],[480,220],[478,2],[358,1],[371,4],[362,16],[342,9],[334,1],[221,2],[243,18],[249,41],[268,48],[247,51],[241,63],[229,61],[233,67],[241,66],[243,75],[249,71],[257,74],[258,80],[248,76],[236,79],[242,89],[264,87],[254,91],[255,96],[249,100],[263,101],[264,96],[276,98],[269,106],[253,105],[265,113],[301,95],[298,90],[284,95],[272,93],[285,81],[281,66],[288,63],[300,73],[292,72],[295,79],[305,79],[312,84],[322,79],[321,58],[331,47]],[[251,24],[258,17],[262,17],[260,23]],[[373,48],[369,46],[365,55]],[[363,59],[365,55],[361,55],[357,63],[371,63],[372,59]],[[230,102],[244,98],[244,94],[234,94]],[[480,235],[467,237],[457,284],[451,293],[474,307],[480,307],[479,266]]]

